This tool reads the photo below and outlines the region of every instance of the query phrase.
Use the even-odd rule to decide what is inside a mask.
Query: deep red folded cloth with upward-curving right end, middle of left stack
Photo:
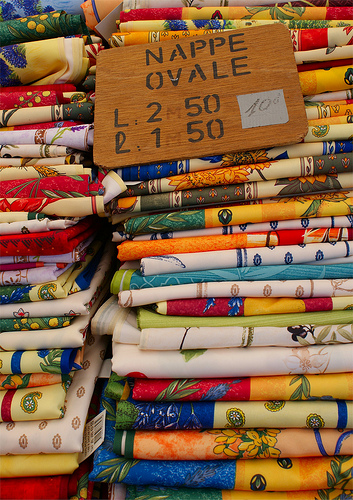
[[[86,217],[67,229],[0,237],[0,255],[57,255],[71,252],[99,228],[94,217]]]

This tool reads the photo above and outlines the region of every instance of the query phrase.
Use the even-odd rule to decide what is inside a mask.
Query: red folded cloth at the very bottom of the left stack
[[[1,478],[0,499],[62,500],[69,498],[69,475]]]

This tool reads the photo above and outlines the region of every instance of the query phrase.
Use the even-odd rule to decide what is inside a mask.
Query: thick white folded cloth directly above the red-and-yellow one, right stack
[[[213,378],[352,372],[352,344],[254,349],[141,351],[113,343],[113,371],[120,377]]]

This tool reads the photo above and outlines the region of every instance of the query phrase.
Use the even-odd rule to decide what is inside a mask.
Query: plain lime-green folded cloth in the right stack
[[[164,316],[143,307],[137,308],[137,325],[144,328],[171,328],[191,326],[293,326],[352,324],[352,311],[320,311],[313,313],[268,314],[266,316],[194,317]]]

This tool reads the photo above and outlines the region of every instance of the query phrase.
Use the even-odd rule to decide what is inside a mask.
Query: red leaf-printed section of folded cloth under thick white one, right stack
[[[207,394],[207,399],[210,401],[248,401],[250,398],[250,377],[243,378],[211,378],[202,380],[193,379],[143,379],[135,378],[134,387],[132,390],[132,398],[139,401],[155,401],[162,391],[164,391],[170,384],[179,382],[179,387],[173,391],[173,400],[180,401],[200,401],[204,399]],[[188,387],[184,386],[183,391],[180,382],[192,383]],[[218,390],[217,390],[218,389]],[[187,392],[186,392],[187,391]],[[209,392],[210,391],[210,392]],[[217,398],[218,395],[221,397]],[[216,397],[216,399],[212,396]],[[163,401],[163,397],[158,399]]]

